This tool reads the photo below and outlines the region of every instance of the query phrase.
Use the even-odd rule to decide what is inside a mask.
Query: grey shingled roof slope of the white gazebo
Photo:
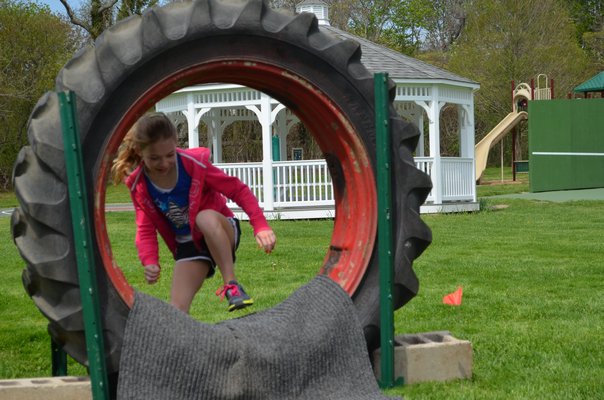
[[[480,85],[470,79],[456,75],[442,68],[435,67],[418,59],[406,56],[370,40],[350,34],[333,26],[321,26],[339,37],[351,39],[361,45],[361,61],[370,72],[387,72],[393,80],[409,81],[451,81],[463,86],[478,88]]]

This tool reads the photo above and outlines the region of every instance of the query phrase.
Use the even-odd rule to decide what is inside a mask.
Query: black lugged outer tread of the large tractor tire
[[[271,10],[262,0],[178,2],[119,22],[103,33],[94,45],[75,54],[60,71],[56,91],[75,92],[82,143],[89,135],[99,134],[94,122],[98,121],[99,113],[107,111],[114,91],[124,80],[130,79],[159,54],[208,34],[256,35],[311,53],[341,71],[359,96],[371,100],[367,108],[373,113],[373,79],[361,64],[360,46],[321,31],[314,16],[306,13],[285,16]],[[86,364],[58,107],[54,93],[47,93],[30,116],[30,146],[23,149],[14,168],[13,183],[21,205],[11,226],[15,243],[27,264],[23,281],[28,294],[49,319],[49,332],[53,338],[77,361]],[[431,184],[413,164],[411,154],[417,143],[417,130],[396,116],[393,107],[390,109],[396,143],[393,149],[396,173],[393,200],[398,226],[395,304],[401,306],[417,292],[411,263],[431,240],[429,229],[419,217],[419,206]],[[369,149],[375,148],[374,137],[366,140]],[[85,151],[98,151],[98,148],[87,149],[85,144],[83,147]],[[90,177],[88,186],[90,191],[93,188]],[[362,286],[353,296],[370,347],[375,347],[375,330],[379,326],[376,265],[377,256],[374,256]],[[128,309],[102,266],[97,267],[97,275],[102,295],[107,366],[110,372],[117,371]]]

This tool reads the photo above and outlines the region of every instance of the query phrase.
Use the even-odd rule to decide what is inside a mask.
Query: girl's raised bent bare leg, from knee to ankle
[[[220,269],[224,283],[235,280],[233,263],[235,230],[229,220],[214,210],[203,210],[197,214],[195,224],[203,233],[208,250]]]

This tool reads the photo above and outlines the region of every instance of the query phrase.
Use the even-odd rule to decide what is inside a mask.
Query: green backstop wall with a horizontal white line
[[[604,99],[528,106],[530,191],[604,187]]]

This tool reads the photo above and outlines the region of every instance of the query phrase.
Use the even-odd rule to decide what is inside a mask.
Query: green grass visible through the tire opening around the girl
[[[173,261],[163,243],[160,247],[160,263],[163,266],[161,279],[155,285],[148,285],[136,251],[133,251],[134,213],[109,213],[107,226],[115,259],[128,282],[136,290],[168,301]],[[236,273],[246,290],[253,295],[254,309],[276,305],[312,279],[329,248],[333,221],[271,221],[271,226],[278,235],[278,245],[272,254],[265,254],[257,248],[250,225],[246,221],[241,224],[242,239],[237,251]],[[218,322],[245,313],[245,310],[225,312],[226,300],[221,301],[214,295],[222,285],[219,272],[216,274],[217,277],[204,282],[191,307],[191,314],[204,322]]]

